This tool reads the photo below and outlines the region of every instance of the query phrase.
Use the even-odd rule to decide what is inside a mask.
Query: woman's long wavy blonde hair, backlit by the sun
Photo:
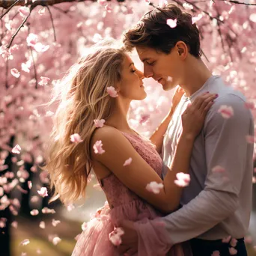
[[[107,120],[112,115],[114,98],[106,89],[121,81],[123,61],[124,49],[109,43],[94,46],[87,57],[70,68],[60,84],[61,92],[51,100],[59,102],[43,166],[54,191],[49,202],[60,198],[70,204],[85,197],[91,172],[90,141],[96,129],[94,119]],[[70,141],[74,133],[81,136],[82,142]]]

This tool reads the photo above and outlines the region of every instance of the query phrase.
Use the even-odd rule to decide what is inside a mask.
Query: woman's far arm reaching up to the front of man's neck
[[[184,91],[183,88],[177,86],[174,91],[174,96],[171,100],[171,110],[168,112],[168,115],[163,119],[162,123],[157,127],[157,129],[150,136],[150,141],[156,145],[156,150],[158,153],[162,153],[162,141],[165,135],[166,129],[171,121],[172,115],[174,114],[174,110],[177,107],[177,104],[180,103],[181,97],[183,97]]]

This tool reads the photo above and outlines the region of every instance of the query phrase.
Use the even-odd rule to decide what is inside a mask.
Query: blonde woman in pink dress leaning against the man
[[[161,180],[159,153],[127,122],[130,102],[147,96],[142,79],[143,73],[124,50],[106,45],[94,48],[71,68],[61,85],[61,103],[44,167],[55,192],[52,201],[59,197],[68,204],[84,196],[93,168],[109,203],[88,222],[73,256],[118,255],[115,245],[121,234],[114,231],[118,219],[154,219],[179,206],[182,189],[174,184],[176,174],[188,171],[193,141],[216,96],[198,97],[186,109],[174,161]],[[163,188],[153,188],[153,181]]]

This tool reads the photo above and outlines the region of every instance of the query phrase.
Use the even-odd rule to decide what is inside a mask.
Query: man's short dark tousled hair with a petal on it
[[[177,19],[177,26],[170,28],[167,19]],[[199,31],[192,24],[192,16],[174,4],[154,7],[124,33],[124,46],[129,51],[146,46],[168,54],[178,41],[186,43],[191,55],[201,57]]]

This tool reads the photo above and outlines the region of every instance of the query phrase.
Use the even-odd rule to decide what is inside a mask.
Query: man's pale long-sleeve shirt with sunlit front
[[[183,207],[162,219],[170,245],[194,237],[241,238],[249,228],[254,145],[246,138],[254,135],[254,122],[243,94],[226,86],[219,76],[212,76],[191,97],[184,96],[165,134],[163,160],[170,166],[187,104],[206,91],[219,97],[195,140],[189,168],[191,181],[180,201]],[[231,107],[234,115],[223,118],[218,112],[221,106]],[[214,171],[218,165],[225,168],[223,173]]]

